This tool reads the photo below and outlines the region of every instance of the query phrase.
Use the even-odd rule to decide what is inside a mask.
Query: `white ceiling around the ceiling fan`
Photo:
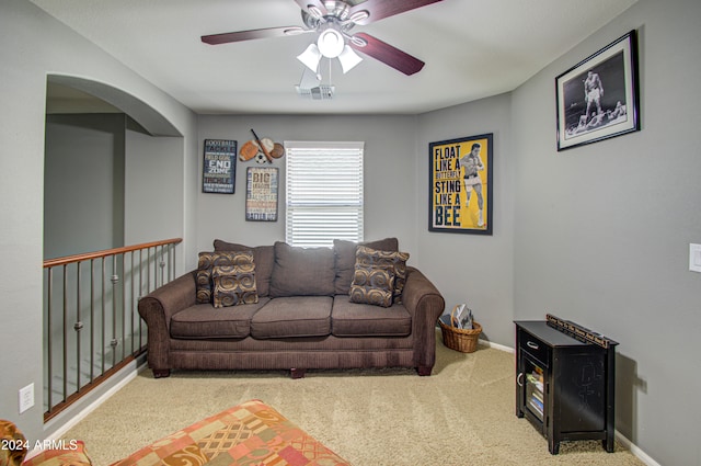
[[[514,90],[636,0],[443,0],[356,26],[426,66],[411,77],[370,57],[347,75],[334,67],[324,101],[295,91],[312,34],[199,39],[302,25],[294,0],[31,1],[197,113],[415,114]]]

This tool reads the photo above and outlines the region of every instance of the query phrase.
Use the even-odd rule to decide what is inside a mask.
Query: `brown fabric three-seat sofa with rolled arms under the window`
[[[399,250],[395,238],[363,245]],[[301,377],[308,368],[350,367],[415,367],[430,375],[445,300],[417,269],[406,266],[401,295],[379,307],[350,303],[354,242],[310,249],[222,240],[214,246],[219,252],[253,252],[257,303],[197,303],[197,271],[141,298],[154,377],[171,370],[291,370]]]

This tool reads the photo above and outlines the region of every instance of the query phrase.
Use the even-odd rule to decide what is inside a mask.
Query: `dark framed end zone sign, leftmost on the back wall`
[[[205,139],[202,192],[233,194],[237,180],[237,145],[231,139]]]

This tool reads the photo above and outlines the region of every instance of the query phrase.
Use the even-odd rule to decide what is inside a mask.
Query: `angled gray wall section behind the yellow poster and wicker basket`
[[[482,338],[513,346],[514,159],[510,95],[426,113],[416,129],[416,235],[421,269],[446,298],[447,310],[467,303]],[[492,236],[428,231],[428,145],[493,133]]]

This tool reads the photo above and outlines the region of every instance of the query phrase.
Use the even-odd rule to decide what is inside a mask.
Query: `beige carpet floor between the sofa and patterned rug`
[[[440,333],[440,332],[438,332]],[[252,398],[356,466],[376,465],[643,465],[617,444],[563,442],[559,455],[515,414],[514,355],[478,346],[444,346],[434,375],[410,370],[175,372],[145,371],[65,435],[85,441],[105,466],[172,431]]]

